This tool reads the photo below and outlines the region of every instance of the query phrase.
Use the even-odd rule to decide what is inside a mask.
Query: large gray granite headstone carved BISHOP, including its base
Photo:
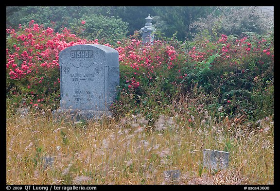
[[[60,108],[54,115],[91,119],[111,115],[120,84],[119,53],[105,45],[75,45],[59,53]]]

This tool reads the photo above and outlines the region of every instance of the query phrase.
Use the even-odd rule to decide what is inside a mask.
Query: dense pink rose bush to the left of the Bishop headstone
[[[24,105],[34,106],[59,100],[59,52],[73,45],[98,44],[96,40],[80,39],[67,28],[54,33],[34,20],[29,27],[20,25],[17,31],[10,28],[6,32],[7,92],[16,104],[20,99],[25,100]]]

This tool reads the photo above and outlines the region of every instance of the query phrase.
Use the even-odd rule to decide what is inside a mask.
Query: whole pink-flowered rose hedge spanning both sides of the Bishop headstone
[[[81,21],[81,25],[85,23]],[[59,52],[73,45],[99,44],[98,39],[81,39],[67,28],[54,33],[34,20],[27,27],[6,31],[6,92],[17,107],[59,106]],[[178,92],[199,86],[216,94],[218,106],[234,113],[245,109],[240,104],[243,99],[251,103],[253,98],[236,92],[273,89],[268,83],[273,78],[273,34],[202,36],[186,42],[155,40],[149,46],[136,34],[115,45],[104,45],[119,52],[120,96],[114,105],[118,111],[137,106],[160,108],[170,104]],[[258,83],[255,77],[260,79]]]

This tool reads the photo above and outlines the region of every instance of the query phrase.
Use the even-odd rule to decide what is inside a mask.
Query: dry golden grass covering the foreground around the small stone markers
[[[55,122],[47,114],[7,114],[6,182],[169,184],[163,172],[179,170],[178,184],[274,184],[274,126],[268,118],[230,128],[226,120],[191,124],[180,116],[160,116],[153,128],[147,123],[133,115]],[[204,148],[228,151],[229,167],[203,168]]]

